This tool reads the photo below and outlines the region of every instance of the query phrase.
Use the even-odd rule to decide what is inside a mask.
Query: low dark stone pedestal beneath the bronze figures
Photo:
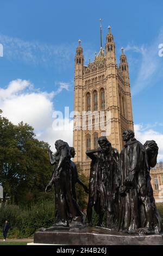
[[[34,234],[34,243],[55,245],[163,245],[163,236],[129,235],[105,228],[45,229]]]

